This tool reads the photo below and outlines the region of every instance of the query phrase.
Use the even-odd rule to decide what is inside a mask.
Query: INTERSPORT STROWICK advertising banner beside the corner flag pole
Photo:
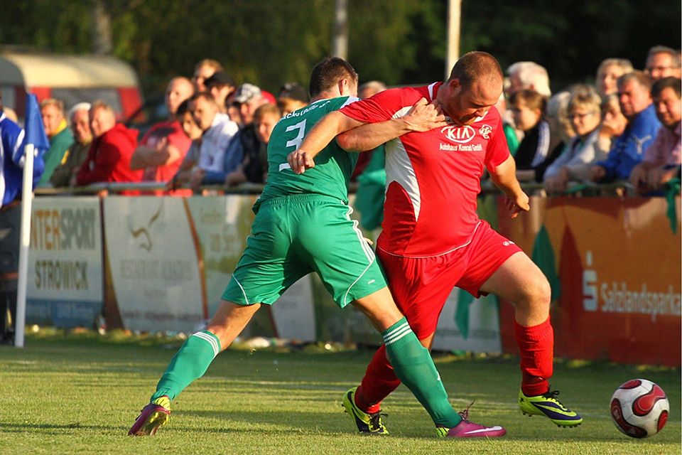
[[[36,198],[31,209],[26,322],[92,327],[102,301],[99,198]]]

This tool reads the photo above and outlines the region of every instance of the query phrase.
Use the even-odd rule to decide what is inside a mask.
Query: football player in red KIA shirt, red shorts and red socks
[[[444,83],[386,90],[328,114],[288,162],[293,171],[303,173],[315,166],[318,151],[343,132],[347,133],[337,141],[344,149],[372,149],[387,139],[386,128],[379,129],[377,122],[403,116],[416,102],[440,107],[448,122],[445,127],[395,134],[386,142],[386,204],[377,256],[391,292],[427,348],[453,287],[474,296],[492,292],[511,301],[523,373],[519,407],[524,414],[544,415],[559,426],[573,427],[583,419],[562,405],[558,392],[548,385],[553,369],[548,281],[514,242],[476,213],[484,166],[507,196],[512,218],[529,210],[494,107],[502,80],[492,55],[467,53]],[[345,406],[351,414],[374,416],[381,400],[399,384],[382,346],[362,384],[345,395]]]

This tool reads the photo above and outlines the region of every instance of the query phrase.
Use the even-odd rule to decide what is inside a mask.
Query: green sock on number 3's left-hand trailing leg
[[[220,353],[220,340],[209,331],[194,333],[180,347],[156,385],[151,401],[163,395],[171,400],[185,390],[194,380],[201,378],[216,355]]]

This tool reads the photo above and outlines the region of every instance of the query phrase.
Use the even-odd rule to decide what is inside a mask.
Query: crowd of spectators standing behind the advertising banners
[[[543,66],[510,65],[497,109],[519,180],[542,183],[548,193],[564,193],[576,182],[625,181],[632,193],[657,195],[678,177],[680,53],[657,45],[642,60],[637,70],[629,60],[607,58],[595,85],[578,83],[556,94]],[[365,82],[359,97],[385,88]],[[308,104],[308,90],[286,83],[275,96],[237,85],[220,63],[202,60],[191,80],[168,82],[165,104],[168,118],[139,137],[117,122],[106,102],[81,102],[66,112],[62,101],[43,100],[50,149],[38,185],[153,181],[166,183],[160,193],[188,194],[205,185],[264,183],[272,129]],[[361,156],[354,178],[371,156]]]

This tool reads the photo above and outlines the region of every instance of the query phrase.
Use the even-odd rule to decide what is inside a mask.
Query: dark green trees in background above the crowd
[[[94,49],[91,9],[109,14],[112,53],[131,63],[146,93],[214,58],[237,82],[277,91],[308,81],[331,51],[330,0],[31,0],[6,1],[0,43],[57,53]],[[391,85],[443,78],[446,0],[350,0],[349,60],[361,80]],[[534,60],[552,87],[592,80],[600,61],[629,58],[642,68],[646,50],[679,48],[681,4],[674,0],[463,0],[462,49],[487,50],[503,68]]]

